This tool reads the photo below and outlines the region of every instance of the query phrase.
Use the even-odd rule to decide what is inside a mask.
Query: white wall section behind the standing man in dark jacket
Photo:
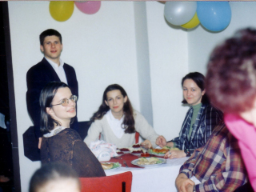
[[[49,13],[49,2],[8,2],[14,68],[18,146],[22,191],[27,191],[39,162],[24,157],[22,134],[32,126],[26,112],[26,72],[42,60],[39,34],[54,28],[62,34],[62,60],[74,66],[79,83],[78,121],[89,120],[106,86],[122,85],[140,110],[133,2],[102,2],[98,13],[87,15],[74,7],[66,22]]]

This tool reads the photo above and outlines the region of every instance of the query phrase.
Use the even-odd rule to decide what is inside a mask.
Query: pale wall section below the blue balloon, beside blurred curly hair
[[[256,2],[230,2],[231,21],[226,30],[210,33],[198,26],[188,33],[189,70],[206,74],[206,64],[211,51],[218,43],[230,38],[234,31],[244,27],[256,28]]]

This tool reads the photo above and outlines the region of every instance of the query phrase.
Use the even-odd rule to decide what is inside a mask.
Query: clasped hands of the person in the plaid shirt
[[[178,174],[175,181],[178,192],[192,192],[194,182],[186,177],[186,174]]]

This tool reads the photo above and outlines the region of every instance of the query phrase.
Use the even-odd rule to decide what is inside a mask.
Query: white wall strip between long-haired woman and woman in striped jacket
[[[177,137],[187,107],[181,80],[188,72],[187,32],[165,21],[164,4],[146,2],[154,129],[168,140]]]

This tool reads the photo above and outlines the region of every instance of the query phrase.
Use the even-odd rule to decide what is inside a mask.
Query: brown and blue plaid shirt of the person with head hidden
[[[238,141],[222,122],[205,146],[183,164],[180,173],[195,176],[201,182],[196,191],[234,191],[246,182],[246,167],[242,162]]]

